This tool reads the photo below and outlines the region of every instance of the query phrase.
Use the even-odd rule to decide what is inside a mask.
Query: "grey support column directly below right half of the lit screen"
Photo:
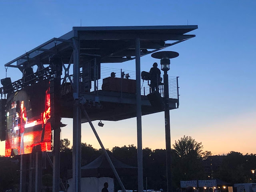
[[[36,152],[36,191],[42,191],[42,152]]]

